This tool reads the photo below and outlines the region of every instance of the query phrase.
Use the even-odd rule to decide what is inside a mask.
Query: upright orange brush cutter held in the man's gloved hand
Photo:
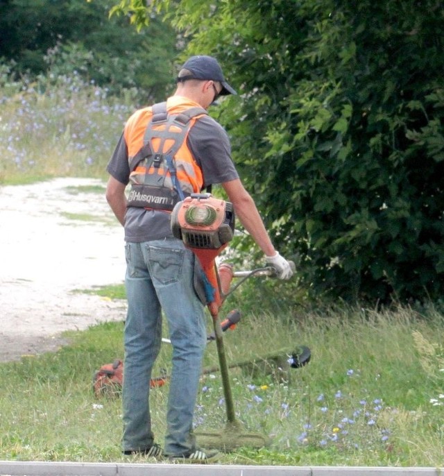
[[[244,432],[243,425],[234,414],[234,402],[228,376],[229,367],[219,319],[219,308],[223,304],[223,300],[237,288],[230,290],[232,279],[236,275],[232,266],[224,263],[218,269],[215,261],[234,236],[232,203],[214,198],[211,194],[192,194],[174,207],[171,214],[171,231],[174,237],[181,239],[185,246],[194,252],[203,270],[203,294],[212,316],[227,412],[228,421],[224,430],[221,432],[196,432],[198,443],[204,448],[217,448],[227,452],[241,446],[262,448],[268,445],[268,438],[262,434]],[[250,275],[259,273],[273,275],[275,271],[268,267],[248,272],[247,275],[239,277],[244,277],[245,280]],[[309,349],[304,347],[302,351],[295,352],[295,356],[295,366],[302,366],[309,361]]]

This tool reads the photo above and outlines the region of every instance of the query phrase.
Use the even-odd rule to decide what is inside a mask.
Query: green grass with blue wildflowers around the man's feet
[[[443,318],[410,309],[359,309],[291,316],[250,314],[225,336],[230,363],[307,344],[311,362],[273,374],[232,368],[237,418],[271,436],[269,448],[239,448],[223,464],[441,466],[444,457]],[[123,323],[67,332],[54,354],[1,364],[0,459],[142,461],[120,451],[120,398],[97,399],[92,374],[123,356]],[[284,352],[285,355],[285,352]],[[169,368],[164,344],[154,374]],[[209,343],[205,366],[216,365]],[[151,391],[162,442],[168,385]],[[222,429],[225,405],[217,372],[203,375],[196,432]]]

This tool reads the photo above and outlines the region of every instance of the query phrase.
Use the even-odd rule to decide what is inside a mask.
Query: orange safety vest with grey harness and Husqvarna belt
[[[133,114],[123,136],[128,147],[128,207],[171,212],[203,187],[200,167],[187,146],[189,129],[207,111],[184,98],[170,98]]]

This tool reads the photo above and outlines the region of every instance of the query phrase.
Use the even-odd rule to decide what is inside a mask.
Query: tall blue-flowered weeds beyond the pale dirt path
[[[133,97],[108,96],[76,74],[20,83],[4,69],[0,76],[0,182],[105,176]]]

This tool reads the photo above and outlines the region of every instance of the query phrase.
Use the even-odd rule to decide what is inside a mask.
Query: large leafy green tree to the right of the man
[[[117,8],[136,23],[146,15],[142,0]],[[188,35],[187,53],[219,58],[241,92],[221,121],[307,289],[441,297],[440,1],[151,0],[148,10]]]

